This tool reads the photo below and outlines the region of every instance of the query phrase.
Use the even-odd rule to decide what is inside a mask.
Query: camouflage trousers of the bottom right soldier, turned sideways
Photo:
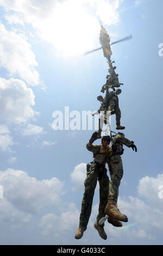
[[[123,177],[123,165],[121,156],[116,154],[109,159],[108,168],[110,172],[109,200],[118,200],[118,191]]]

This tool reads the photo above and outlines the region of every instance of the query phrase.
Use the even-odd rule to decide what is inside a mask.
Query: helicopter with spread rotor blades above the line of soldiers
[[[97,49],[95,49],[95,50],[87,51],[87,52],[84,53],[84,55],[87,55],[87,54],[89,54],[91,52],[103,49],[104,57],[108,59],[108,62],[111,62],[110,61],[110,57],[112,55],[112,51],[111,51],[111,47],[110,46],[113,45],[113,44],[116,44],[116,43],[120,43],[122,41],[129,40],[131,38],[133,38],[133,36],[129,35],[128,37],[125,37],[125,38],[122,38],[120,40],[114,41],[113,43],[110,44],[109,34],[107,33],[106,29],[101,25],[99,42],[100,42],[100,44],[102,46],[97,48]]]

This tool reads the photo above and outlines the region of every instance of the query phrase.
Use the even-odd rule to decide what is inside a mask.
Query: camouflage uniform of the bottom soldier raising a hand
[[[80,213],[79,226],[87,227],[91,215],[93,195],[95,192],[97,180],[99,182],[99,208],[97,222],[105,216],[104,210],[108,201],[109,177],[105,168],[106,156],[108,156],[109,147],[106,149],[102,145],[92,145],[90,148],[86,145],[87,150],[91,151],[94,156],[94,162],[91,163],[87,170],[87,176],[84,182],[85,192],[82,200],[82,209]]]

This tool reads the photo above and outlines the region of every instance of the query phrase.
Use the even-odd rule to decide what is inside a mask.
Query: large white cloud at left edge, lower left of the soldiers
[[[64,193],[64,182],[58,178],[37,180],[21,170],[1,171],[0,183],[5,200],[17,211],[32,215],[49,205],[58,205]]]

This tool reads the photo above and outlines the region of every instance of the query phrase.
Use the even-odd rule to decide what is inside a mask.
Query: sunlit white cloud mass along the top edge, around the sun
[[[24,0],[23,4],[18,0],[0,1],[8,10],[5,17],[10,24],[30,23],[40,38],[52,43],[64,57],[80,55],[95,47],[100,29],[97,17],[103,25],[115,25],[120,21],[118,9],[122,3],[123,0]]]

